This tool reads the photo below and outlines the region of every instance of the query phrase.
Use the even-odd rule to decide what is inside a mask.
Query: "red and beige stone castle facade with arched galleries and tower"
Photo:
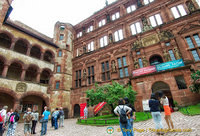
[[[116,1],[75,26],[57,22],[53,38],[4,21],[8,2],[0,3],[0,108],[41,113],[44,105],[62,106],[66,116],[79,116],[85,91],[112,80],[133,86],[138,111],[157,91],[172,105],[199,102],[189,91],[190,74],[200,67],[198,0]],[[176,60],[184,65],[133,74]]]

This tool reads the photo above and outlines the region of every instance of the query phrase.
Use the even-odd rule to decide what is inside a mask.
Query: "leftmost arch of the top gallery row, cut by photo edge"
[[[0,46],[9,49],[12,44],[12,37],[7,32],[0,32]]]

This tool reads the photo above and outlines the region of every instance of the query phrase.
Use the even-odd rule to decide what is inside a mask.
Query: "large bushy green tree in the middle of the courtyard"
[[[125,87],[113,81],[112,84],[105,84],[102,86],[95,84],[95,88],[87,90],[86,94],[87,98],[89,98],[89,105],[93,106],[99,102],[107,102],[113,113],[120,98],[128,97],[130,103],[134,104],[136,92],[132,89],[131,85]]]

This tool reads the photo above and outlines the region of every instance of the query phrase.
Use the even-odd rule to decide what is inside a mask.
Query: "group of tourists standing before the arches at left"
[[[19,121],[20,115],[18,114],[18,110],[16,109],[14,112],[12,109],[7,112],[8,106],[4,106],[0,111],[0,136],[3,136],[5,128],[7,127],[8,131],[6,136],[14,136],[15,129],[17,127],[17,122]],[[40,119],[41,123],[41,136],[46,135],[47,133],[47,124],[50,119],[51,113],[47,106],[44,107],[44,112],[42,113],[42,117]],[[52,112],[51,116],[51,124],[52,127],[58,129],[58,119],[59,119],[59,127],[64,127],[64,111],[63,108],[56,108]],[[23,116],[24,120],[24,134],[25,136],[30,136],[31,134],[36,134],[35,128],[37,122],[39,121],[39,113],[38,111],[31,111],[31,108],[27,108]]]

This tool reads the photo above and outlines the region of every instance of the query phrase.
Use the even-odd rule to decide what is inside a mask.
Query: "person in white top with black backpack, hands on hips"
[[[131,125],[127,116],[131,111],[132,109],[125,105],[124,99],[119,99],[119,105],[114,109],[114,113],[119,116],[119,125],[123,136],[131,136]]]

